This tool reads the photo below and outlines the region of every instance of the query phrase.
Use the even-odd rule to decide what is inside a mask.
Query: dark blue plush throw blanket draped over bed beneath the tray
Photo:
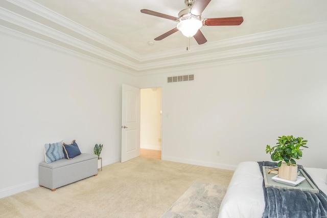
[[[261,173],[263,173],[262,166],[276,166],[276,163],[269,161],[258,163]],[[302,169],[314,183],[303,166],[298,165],[298,168]],[[319,193],[312,193],[298,189],[266,188],[265,182],[263,182],[263,189],[266,205],[262,217],[327,217],[327,196],[320,189]]]

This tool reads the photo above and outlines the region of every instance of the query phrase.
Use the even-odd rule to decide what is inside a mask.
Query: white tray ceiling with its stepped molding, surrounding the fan
[[[285,42],[292,41],[298,49],[294,40],[306,39],[308,43],[312,39],[314,43],[312,37],[326,36],[327,26],[326,0],[212,0],[202,18],[243,16],[244,22],[240,26],[202,27],[208,41],[197,45],[192,38],[191,52],[187,52],[188,38],[179,31],[161,41],[153,40],[176,27],[176,22],[140,12],[149,9],[178,16],[186,8],[184,0],[0,0],[0,7],[0,25],[6,30],[134,74],[250,57],[250,53],[258,55],[256,49],[277,54],[276,46],[267,50],[272,43],[285,48]],[[149,46],[149,41],[154,45]],[[302,42],[298,44],[301,47]]]

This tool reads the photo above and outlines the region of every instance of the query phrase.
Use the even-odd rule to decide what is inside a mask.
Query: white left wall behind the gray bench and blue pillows
[[[0,198],[38,186],[44,143],[101,143],[104,165],[120,161],[121,87],[135,77],[3,35],[0,48]]]

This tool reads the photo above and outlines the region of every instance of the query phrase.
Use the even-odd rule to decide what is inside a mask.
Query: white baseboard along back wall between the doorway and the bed
[[[174,158],[174,157],[168,157],[168,156],[162,156],[161,159],[165,160],[165,161],[193,164],[193,165],[198,165],[198,166],[207,166],[207,167],[213,167],[213,168],[219,168],[219,169],[228,169],[228,170],[233,170],[233,171],[235,171],[236,167],[237,167],[237,165],[214,163],[214,162],[207,162],[207,161],[198,161],[198,160],[192,160],[192,159],[181,159],[181,158]]]

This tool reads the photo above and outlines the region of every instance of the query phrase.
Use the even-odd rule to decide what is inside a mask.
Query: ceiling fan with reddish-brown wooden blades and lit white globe
[[[243,17],[222,17],[222,18],[204,18],[201,19],[201,13],[211,0],[184,0],[186,6],[189,8],[181,10],[178,17],[162,14],[159,12],[142,9],[141,12],[170,19],[178,22],[177,27],[156,37],[154,40],[161,40],[170,36],[171,34],[180,30],[186,37],[193,37],[199,45],[205,43],[207,40],[200,31],[202,26],[238,26],[243,23]]]

